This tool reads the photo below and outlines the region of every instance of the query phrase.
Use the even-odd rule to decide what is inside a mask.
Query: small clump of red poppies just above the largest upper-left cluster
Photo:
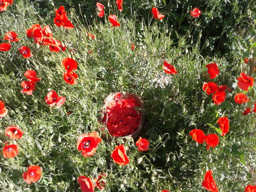
[[[74,25],[68,20],[67,12],[65,12],[65,8],[63,6],[60,6],[58,10],[55,10],[54,23],[58,27],[62,26],[65,29],[74,28]]]

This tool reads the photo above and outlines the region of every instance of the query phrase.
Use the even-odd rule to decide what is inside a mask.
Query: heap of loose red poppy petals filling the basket
[[[109,133],[118,137],[134,133],[140,124],[140,113],[135,110],[140,106],[136,100],[132,97],[119,98],[115,97],[116,100],[108,103],[104,116]]]

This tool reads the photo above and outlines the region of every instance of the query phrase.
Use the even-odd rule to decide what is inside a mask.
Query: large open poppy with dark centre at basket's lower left
[[[93,131],[89,134],[84,133],[79,136],[76,148],[78,151],[82,151],[84,157],[90,157],[94,155],[100,142],[101,138],[99,137],[98,132]]]

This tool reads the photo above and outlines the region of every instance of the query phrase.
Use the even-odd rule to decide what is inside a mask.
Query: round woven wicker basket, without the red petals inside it
[[[132,133],[132,134],[130,134],[130,135],[121,136],[121,137],[115,137],[115,140],[116,140],[117,138],[123,138],[123,140],[126,140],[125,138],[127,138],[127,137],[132,137],[133,139],[135,139],[135,138],[140,134],[140,131],[141,131],[142,126],[143,126],[143,121],[144,121],[144,111],[143,111],[143,109],[144,109],[144,102],[143,102],[143,100],[142,100],[139,96],[137,96],[137,95],[135,95],[135,94],[133,94],[133,93],[127,92],[127,93],[123,94],[122,92],[115,92],[115,93],[109,94],[109,95],[105,98],[105,100],[104,100],[104,102],[103,102],[103,108],[104,108],[104,109],[107,108],[108,103],[111,102],[111,101],[113,101],[113,100],[114,100],[114,97],[115,97],[116,94],[118,94],[118,93],[121,94],[120,99],[125,99],[125,98],[129,98],[129,97],[134,98],[134,99],[136,100],[136,102],[140,105],[140,108],[141,108],[142,110],[140,110],[141,115],[140,115],[140,124],[139,124],[138,129],[137,129],[134,133]],[[101,124],[101,125],[100,125],[100,131],[102,131],[102,129],[103,129],[102,125],[106,123],[106,122],[103,122],[103,121],[104,121],[104,116],[105,116],[105,114],[106,114],[106,111],[105,111],[103,108],[100,109],[100,113],[103,114],[103,115],[98,118],[98,122]],[[108,120],[107,120],[107,121],[108,121]],[[106,132],[103,132],[103,131],[102,131],[101,136],[102,136],[102,138],[107,139],[107,140],[110,140],[110,141],[112,140],[112,137],[113,137],[113,136],[110,136],[110,135],[108,135]]]

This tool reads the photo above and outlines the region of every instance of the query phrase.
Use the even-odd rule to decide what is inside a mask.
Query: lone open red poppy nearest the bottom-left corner
[[[28,183],[28,185],[31,184],[31,182],[36,182],[41,178],[42,175],[42,169],[41,167],[37,165],[30,165],[28,167],[28,172],[23,173],[23,179]]]

